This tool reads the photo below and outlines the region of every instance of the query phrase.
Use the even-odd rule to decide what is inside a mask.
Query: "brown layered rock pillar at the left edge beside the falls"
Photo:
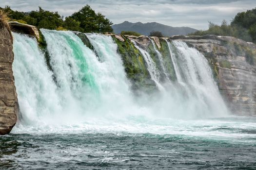
[[[0,135],[12,130],[19,110],[12,70],[12,43],[8,24],[0,20]]]

